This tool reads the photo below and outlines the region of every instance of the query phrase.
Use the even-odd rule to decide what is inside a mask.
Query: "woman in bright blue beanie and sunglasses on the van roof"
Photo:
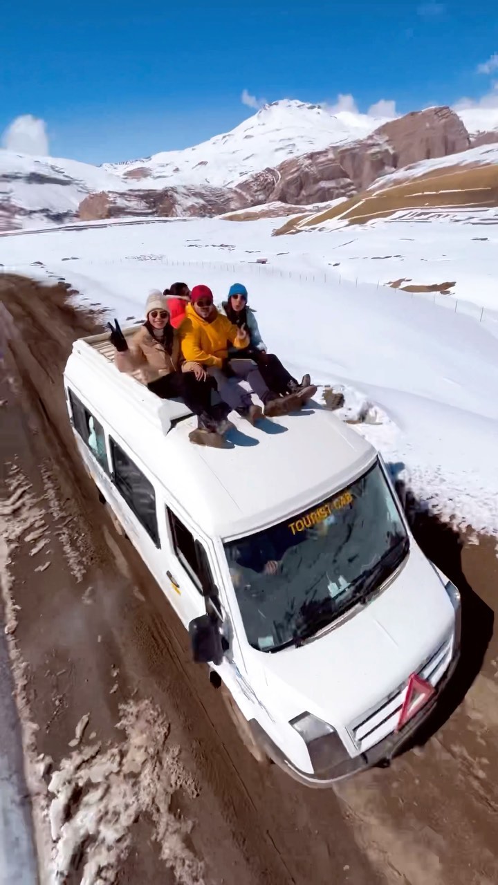
[[[238,359],[242,356],[250,357],[258,366],[263,380],[268,388],[275,390],[280,396],[287,394],[299,394],[301,404],[307,403],[308,399],[315,396],[316,387],[311,383],[309,375],[304,375],[299,382],[292,378],[285,366],[274,353],[268,353],[267,346],[261,338],[258,320],[255,311],[247,304],[247,289],[242,283],[236,282],[230,286],[229,297],[222,304],[223,311],[230,321],[237,327],[245,326],[251,336],[250,346],[245,352],[237,353],[237,350],[229,350],[229,359]],[[230,364],[231,366],[231,364]]]

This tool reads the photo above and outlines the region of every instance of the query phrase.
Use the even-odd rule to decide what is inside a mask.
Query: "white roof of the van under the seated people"
[[[66,381],[208,535],[251,534],[305,510],[377,456],[361,435],[315,404],[257,427],[232,413],[229,448],[194,445],[189,433],[197,419],[184,404],[160,400],[119,373],[102,352],[107,342],[108,335],[74,342]]]

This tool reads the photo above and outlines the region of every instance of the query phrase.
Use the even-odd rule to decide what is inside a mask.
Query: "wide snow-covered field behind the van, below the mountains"
[[[64,277],[82,304],[121,321],[141,319],[148,291],[175,280],[205,282],[217,300],[245,282],[271,350],[295,373],[344,385],[349,413],[374,406],[377,423],[358,430],[416,496],[445,519],[498,536],[496,318],[479,323],[377,288],[425,274],[456,280],[457,296],[498,311],[494,228],[383,222],[271,238],[274,227],[275,219],[192,219],[9,235],[0,237],[0,263]]]

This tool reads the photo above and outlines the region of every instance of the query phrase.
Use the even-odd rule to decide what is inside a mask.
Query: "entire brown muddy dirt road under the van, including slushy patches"
[[[498,881],[494,541],[416,527],[463,593],[462,662],[422,746],[334,791],[261,769],[75,456],[61,372],[96,318],[6,274],[0,301],[4,617],[43,881],[50,864],[68,885]]]

